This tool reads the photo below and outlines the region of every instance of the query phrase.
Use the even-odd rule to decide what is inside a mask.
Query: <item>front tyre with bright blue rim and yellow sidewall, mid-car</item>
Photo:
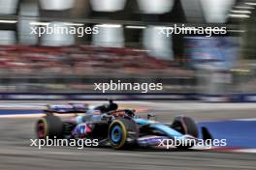
[[[129,144],[137,138],[136,123],[129,119],[119,119],[112,121],[108,138],[113,149],[123,149],[128,146],[127,139],[131,139]]]

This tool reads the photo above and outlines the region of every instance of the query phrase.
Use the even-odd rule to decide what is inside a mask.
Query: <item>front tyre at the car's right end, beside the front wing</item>
[[[175,118],[171,128],[176,129],[182,134],[189,134],[195,138],[198,138],[199,131],[195,121],[189,117],[178,116]],[[188,149],[194,146],[195,143],[189,143],[184,145],[176,146],[176,148]]]

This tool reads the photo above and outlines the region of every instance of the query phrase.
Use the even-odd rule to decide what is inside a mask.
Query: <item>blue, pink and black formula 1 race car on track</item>
[[[61,121],[54,113],[83,113],[68,121]],[[199,136],[196,123],[189,117],[176,117],[172,124],[158,123],[147,115],[142,119],[135,110],[118,109],[112,100],[108,104],[89,107],[87,104],[48,105],[46,116],[36,124],[39,139],[98,139],[100,146],[111,145],[114,149],[128,146],[159,146],[169,140],[182,141]],[[165,142],[163,142],[165,141]],[[196,143],[185,143],[177,148],[188,149]]]

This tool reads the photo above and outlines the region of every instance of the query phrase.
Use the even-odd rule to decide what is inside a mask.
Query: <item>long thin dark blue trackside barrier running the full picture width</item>
[[[196,93],[97,94],[97,93],[0,93],[0,100],[201,100],[206,102],[256,102],[256,94],[204,95]]]

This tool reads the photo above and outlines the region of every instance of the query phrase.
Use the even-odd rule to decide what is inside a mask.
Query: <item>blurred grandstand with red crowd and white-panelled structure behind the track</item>
[[[117,78],[162,82],[162,93],[253,93],[255,8],[255,0],[0,0],[0,91],[92,92],[95,81]],[[101,27],[39,38],[31,23]],[[154,29],[175,23],[228,33]]]

